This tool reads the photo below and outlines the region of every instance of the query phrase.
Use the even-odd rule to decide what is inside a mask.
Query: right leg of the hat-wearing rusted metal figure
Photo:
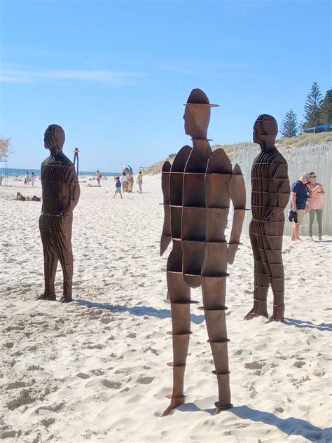
[[[230,372],[228,367],[228,338],[226,329],[226,277],[202,277],[202,296],[205,312],[207,334],[214,359],[214,367],[218,380],[219,401],[216,412],[229,409]]]

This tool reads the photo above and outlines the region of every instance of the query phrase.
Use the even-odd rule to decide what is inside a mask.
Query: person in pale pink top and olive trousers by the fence
[[[321,240],[323,229],[323,210],[324,210],[324,187],[317,182],[317,175],[310,172],[310,183],[307,184],[309,198],[307,200],[310,209],[309,212],[309,236],[312,240],[312,225],[314,224],[314,216],[317,216],[318,224],[318,240]]]

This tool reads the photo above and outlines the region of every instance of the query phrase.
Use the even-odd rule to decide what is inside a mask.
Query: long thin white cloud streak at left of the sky
[[[133,83],[142,74],[130,71],[108,71],[89,69],[29,69],[25,67],[6,67],[0,72],[2,83],[37,83],[50,80],[76,80],[90,83],[103,83],[123,86]]]

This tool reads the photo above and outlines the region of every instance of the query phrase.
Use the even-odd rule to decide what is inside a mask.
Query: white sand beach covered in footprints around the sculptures
[[[113,179],[81,183],[74,211],[74,302],[43,291],[41,196],[0,187],[0,439],[4,442],[331,442],[332,239],[284,238],[286,321],[243,320],[253,298],[249,237],[229,266],[226,304],[234,407],[214,416],[214,364],[202,311],[191,313],[186,404],[171,393],[165,257],[159,257],[160,175],[117,196]],[[91,182],[90,182],[91,183]],[[62,273],[57,271],[57,298]],[[192,298],[202,300],[200,289]],[[269,293],[270,312],[272,293]]]

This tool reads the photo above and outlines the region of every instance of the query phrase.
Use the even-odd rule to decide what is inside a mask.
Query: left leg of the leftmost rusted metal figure
[[[51,242],[51,233],[41,231],[41,242],[43,243],[44,256],[44,283],[43,294],[37,297],[37,300],[55,300],[55,273],[57,271],[57,251]]]

